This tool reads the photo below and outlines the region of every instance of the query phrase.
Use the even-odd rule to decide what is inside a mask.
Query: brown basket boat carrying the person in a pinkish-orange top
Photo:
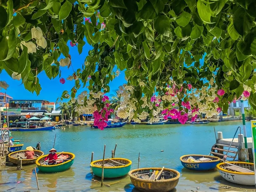
[[[12,162],[13,164],[17,165],[18,164],[18,156],[19,156],[22,159],[22,165],[29,165],[29,164],[35,163],[35,161],[39,157],[43,156],[43,151],[34,150],[35,158],[26,159],[26,157],[25,157],[26,152],[27,152],[27,150],[20,150],[20,151],[14,151],[12,153],[9,153],[9,155],[8,155],[9,161]]]

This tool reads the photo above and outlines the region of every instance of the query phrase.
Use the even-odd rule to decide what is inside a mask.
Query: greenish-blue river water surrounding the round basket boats
[[[140,152],[139,167],[167,167],[181,173],[179,184],[173,191],[227,191],[221,186],[231,186],[229,190],[254,191],[253,187],[237,186],[226,182],[218,171],[193,172],[183,168],[180,156],[185,154],[209,154],[215,143],[213,131],[222,131],[224,138],[232,138],[237,126],[241,122],[216,122],[204,125],[125,125],[122,128],[91,129],[87,126],[66,126],[65,129],[37,132],[12,132],[14,139],[21,140],[27,146],[36,146],[41,142],[41,150],[47,154],[52,148],[55,134],[55,149],[58,152],[66,151],[76,155],[74,164],[69,170],[54,174],[38,172],[40,191],[126,191],[135,192],[129,176],[115,180],[105,180],[105,183],[120,181],[110,187],[100,187],[99,183],[92,181],[90,173],[91,152],[94,160],[102,159],[104,144],[106,156],[111,157],[111,150],[117,143],[115,157],[130,159],[132,169],[138,167],[138,153]],[[251,136],[250,122],[246,122],[247,137]],[[242,131],[243,133],[243,131]],[[163,150],[163,152],[160,152]],[[0,191],[24,191],[37,189],[35,173],[36,165],[23,166],[22,171],[5,170],[0,172]],[[6,167],[5,167],[6,168]],[[38,171],[38,169],[37,169]],[[100,180],[99,178],[96,178]],[[15,183],[21,181],[21,183]],[[243,189],[241,190],[240,187]]]

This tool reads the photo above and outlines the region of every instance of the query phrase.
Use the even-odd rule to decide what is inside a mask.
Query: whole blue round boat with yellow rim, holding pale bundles
[[[189,170],[206,171],[214,169],[221,159],[209,155],[184,155],[180,161]]]

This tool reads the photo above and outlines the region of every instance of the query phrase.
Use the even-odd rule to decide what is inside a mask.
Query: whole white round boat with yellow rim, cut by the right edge
[[[222,162],[217,165],[217,169],[221,176],[229,182],[239,185],[255,185],[253,163],[229,161],[227,164]]]

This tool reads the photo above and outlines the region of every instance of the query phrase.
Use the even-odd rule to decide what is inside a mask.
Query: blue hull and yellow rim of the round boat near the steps
[[[206,162],[184,161],[184,159],[189,156],[196,157],[196,158],[207,157],[207,158],[211,158],[213,160],[206,161]],[[219,157],[213,157],[213,156],[208,156],[208,155],[184,155],[184,156],[180,157],[180,161],[181,161],[181,164],[189,170],[207,171],[207,170],[215,169],[216,165],[221,162],[221,159]]]

